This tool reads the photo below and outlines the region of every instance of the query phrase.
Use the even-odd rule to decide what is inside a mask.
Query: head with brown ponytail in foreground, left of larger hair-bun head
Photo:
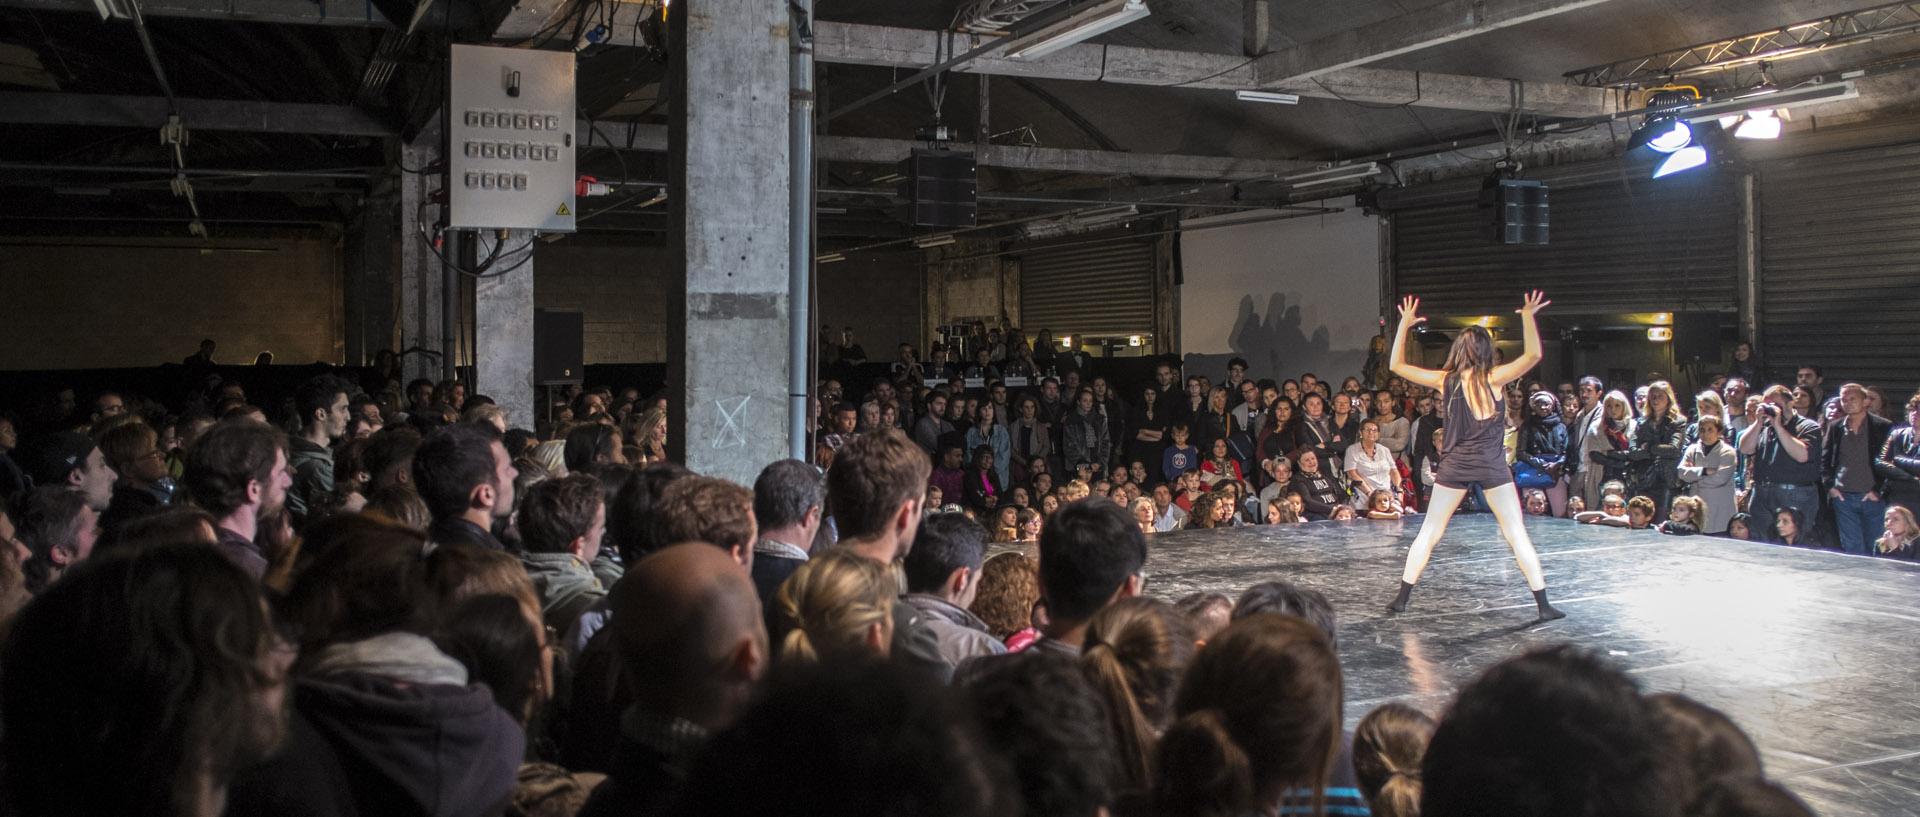
[[[1127,788],[1144,790],[1173,692],[1194,658],[1187,614],[1160,598],[1121,598],[1087,623],[1081,664],[1106,698]]]

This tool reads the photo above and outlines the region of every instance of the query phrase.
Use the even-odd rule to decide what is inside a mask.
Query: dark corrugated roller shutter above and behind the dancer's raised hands
[[[1507,315],[1526,290],[1546,290],[1559,315],[1732,311],[1732,175],[1607,176],[1548,180],[1548,245],[1482,238],[1478,190],[1396,209],[1396,292],[1430,315]]]

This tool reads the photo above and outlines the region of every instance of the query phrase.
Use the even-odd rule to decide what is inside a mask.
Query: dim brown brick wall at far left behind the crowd
[[[340,253],[328,240],[0,240],[0,368],[342,362]]]

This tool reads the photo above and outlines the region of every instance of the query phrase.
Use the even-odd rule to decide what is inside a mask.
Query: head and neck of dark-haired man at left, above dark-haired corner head
[[[213,426],[186,453],[182,481],[194,504],[219,524],[215,549],[255,581],[267,575],[269,554],[255,541],[261,522],[280,512],[294,485],[286,435],[250,422]]]

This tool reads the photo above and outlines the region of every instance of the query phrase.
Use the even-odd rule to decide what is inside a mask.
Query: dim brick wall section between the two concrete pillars
[[[568,238],[534,249],[534,307],[578,309],[586,362],[666,361],[666,249]]]

